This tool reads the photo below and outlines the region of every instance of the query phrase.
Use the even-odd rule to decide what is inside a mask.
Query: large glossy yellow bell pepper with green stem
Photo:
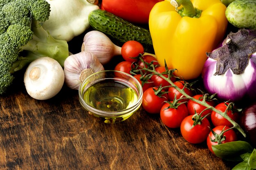
[[[169,68],[177,69],[174,74],[184,79],[199,77],[206,52],[224,38],[225,10],[220,0],[157,2],[150,11],[149,30],[159,64],[166,60]]]

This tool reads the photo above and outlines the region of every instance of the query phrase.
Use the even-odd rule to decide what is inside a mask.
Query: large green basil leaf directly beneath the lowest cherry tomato
[[[212,146],[217,157],[228,161],[243,161],[240,155],[252,152],[252,146],[246,141],[232,141],[225,144]]]

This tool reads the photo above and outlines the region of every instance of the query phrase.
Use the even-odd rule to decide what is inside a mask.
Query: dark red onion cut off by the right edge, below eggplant
[[[245,130],[249,142],[256,147],[256,102],[243,110],[240,126]]]

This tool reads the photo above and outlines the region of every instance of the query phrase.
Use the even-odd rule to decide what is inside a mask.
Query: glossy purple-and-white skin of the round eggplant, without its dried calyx
[[[254,34],[251,36],[256,37]],[[243,73],[234,74],[229,68],[222,75],[214,75],[216,65],[217,60],[208,57],[202,69],[203,84],[207,93],[217,93],[218,99],[243,105],[256,101],[256,51],[249,55],[249,62]]]

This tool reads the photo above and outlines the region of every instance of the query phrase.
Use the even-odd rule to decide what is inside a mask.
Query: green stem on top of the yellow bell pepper
[[[193,18],[196,15],[195,8],[190,0],[171,0],[171,4],[175,7],[176,11],[178,11],[178,7],[182,5],[182,17],[188,16]]]

